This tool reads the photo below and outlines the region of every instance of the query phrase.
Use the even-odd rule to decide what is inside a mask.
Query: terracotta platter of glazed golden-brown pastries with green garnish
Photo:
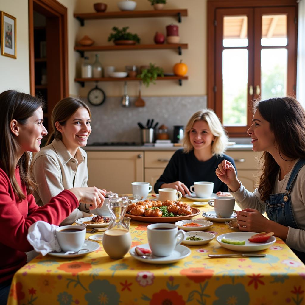
[[[144,222],[176,222],[199,215],[200,210],[181,201],[138,201],[127,207],[125,216]]]

